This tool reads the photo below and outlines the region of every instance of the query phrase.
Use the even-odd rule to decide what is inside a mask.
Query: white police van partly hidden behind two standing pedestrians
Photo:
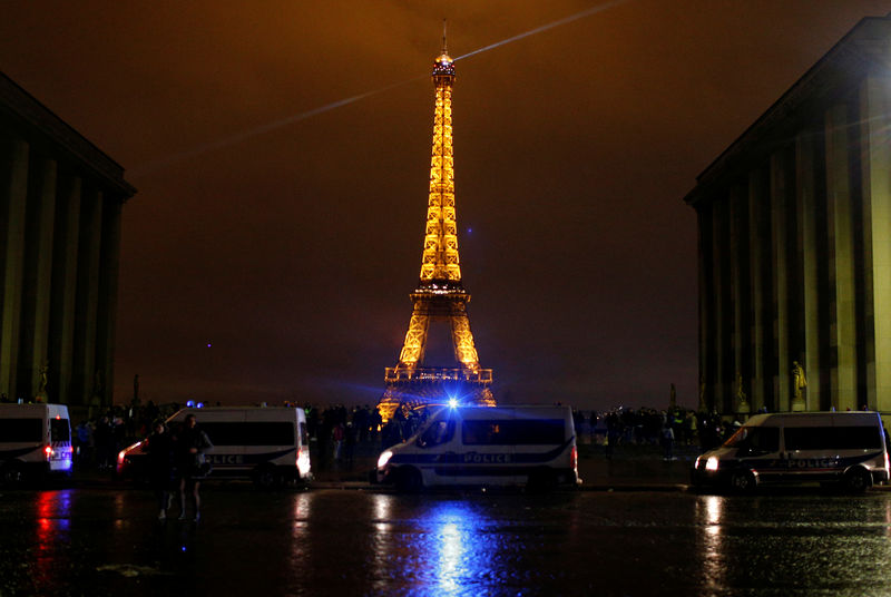
[[[272,488],[312,480],[306,414],[303,409],[271,407],[187,408],[167,419],[176,434],[186,415],[194,414],[210,443],[205,454],[210,479],[251,479],[257,487]],[[120,451],[120,478],[148,477],[146,442]]]

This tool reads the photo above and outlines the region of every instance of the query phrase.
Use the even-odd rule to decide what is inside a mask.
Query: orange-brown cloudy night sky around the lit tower
[[[695,407],[683,197],[861,18],[889,11],[4,0],[0,70],[139,190],[124,208],[118,403],[137,373],[158,402],[376,402],[418,284],[447,17],[461,270],[496,397],[665,407],[675,383]]]

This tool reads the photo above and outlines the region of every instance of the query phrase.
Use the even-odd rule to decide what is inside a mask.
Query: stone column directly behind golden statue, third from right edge
[[[807,410],[820,410],[820,252],[817,249],[816,185],[813,134],[800,133],[795,139],[795,182],[799,213],[799,243],[804,296],[804,368]]]

